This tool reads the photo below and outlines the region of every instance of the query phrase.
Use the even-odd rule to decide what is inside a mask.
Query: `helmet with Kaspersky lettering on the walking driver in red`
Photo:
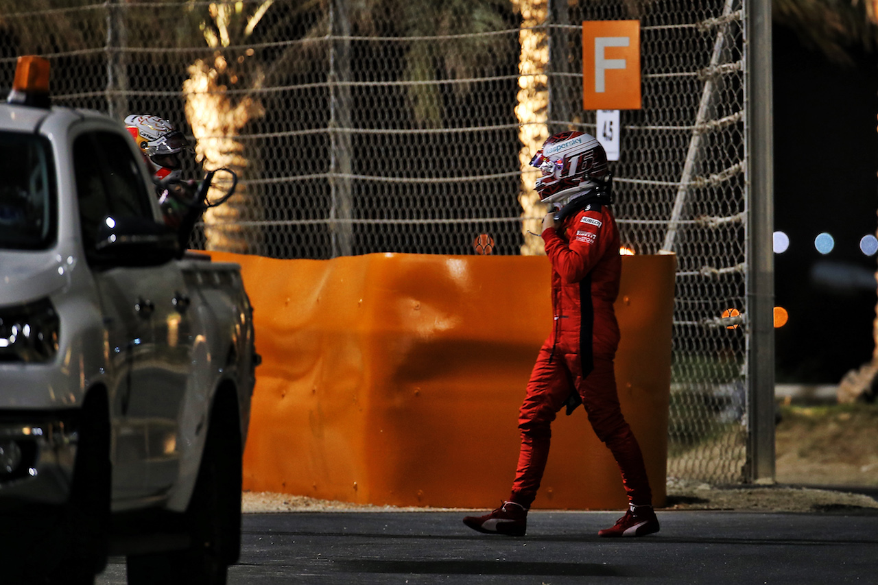
[[[562,132],[543,142],[530,161],[541,170],[536,192],[543,203],[564,205],[567,201],[609,180],[607,153],[601,143],[584,132]]]

